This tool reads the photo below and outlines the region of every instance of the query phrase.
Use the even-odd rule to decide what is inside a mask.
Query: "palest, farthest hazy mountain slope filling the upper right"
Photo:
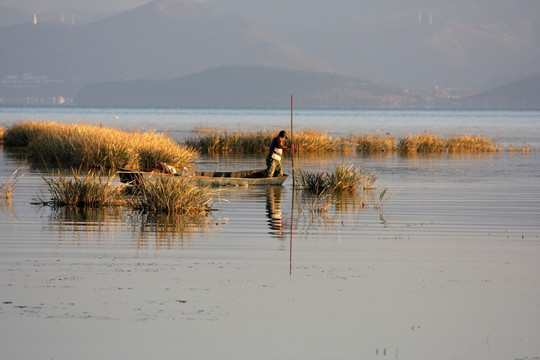
[[[343,74],[409,89],[483,88],[540,71],[540,1],[207,0]]]

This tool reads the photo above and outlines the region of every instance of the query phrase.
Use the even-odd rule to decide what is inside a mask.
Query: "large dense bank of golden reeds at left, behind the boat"
[[[149,169],[156,162],[193,167],[197,152],[155,131],[122,131],[109,127],[46,121],[15,123],[4,135],[6,147],[25,147],[34,161],[63,167],[85,165],[114,169]]]

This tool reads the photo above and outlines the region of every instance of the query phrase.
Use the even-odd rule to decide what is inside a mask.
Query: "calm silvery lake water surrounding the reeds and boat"
[[[287,110],[0,108],[24,119],[168,131],[288,129]],[[333,135],[428,131],[540,144],[540,112],[315,111]],[[6,359],[540,359],[540,155],[300,156],[352,163],[378,189],[313,214],[290,180],[220,190],[208,221],[33,205],[45,183],[0,153]],[[284,160],[290,172],[290,158]],[[202,169],[264,167],[203,156]],[[44,171],[44,170],[42,170]],[[45,170],[45,173],[46,170]],[[377,211],[382,189],[394,196]],[[292,232],[291,232],[292,227]]]

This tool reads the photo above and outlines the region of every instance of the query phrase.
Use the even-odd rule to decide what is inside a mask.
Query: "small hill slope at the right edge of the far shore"
[[[468,109],[540,110],[540,75],[462,98],[456,106]]]

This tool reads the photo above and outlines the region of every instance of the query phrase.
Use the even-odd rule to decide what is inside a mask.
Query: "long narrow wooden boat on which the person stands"
[[[182,176],[180,173],[167,174],[146,172],[134,169],[119,169],[120,181],[126,184],[138,184],[141,181],[155,181],[158,177],[168,176],[186,179],[199,186],[271,186],[282,185],[287,179],[283,176],[266,177],[266,169],[245,171],[195,171],[191,176]]]

